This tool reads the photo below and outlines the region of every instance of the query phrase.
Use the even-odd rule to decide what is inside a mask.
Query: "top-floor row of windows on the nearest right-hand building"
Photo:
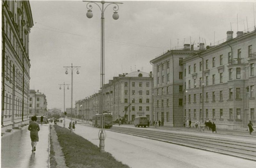
[[[234,62],[236,61],[236,63],[241,63],[241,49],[238,49],[237,50],[237,58],[233,58],[232,60],[232,53],[231,52],[228,52],[228,63],[231,63],[231,62]],[[250,57],[252,54],[252,45],[249,45],[248,46],[248,57]],[[219,56],[219,60],[220,60],[220,66],[223,65],[223,55],[220,55]],[[215,67],[215,57],[212,58],[212,67]],[[203,67],[203,64],[202,62],[199,63],[199,71],[202,70],[202,67]],[[209,69],[209,60],[205,60],[205,69]],[[196,72],[196,64],[194,64],[194,67],[193,67],[193,72],[195,73]],[[191,66],[189,65],[188,66],[188,74],[191,73]],[[186,76],[186,69],[185,69],[185,76]]]

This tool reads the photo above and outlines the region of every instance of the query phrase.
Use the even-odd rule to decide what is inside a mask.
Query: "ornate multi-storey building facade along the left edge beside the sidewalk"
[[[29,120],[29,1],[2,1],[2,126]]]

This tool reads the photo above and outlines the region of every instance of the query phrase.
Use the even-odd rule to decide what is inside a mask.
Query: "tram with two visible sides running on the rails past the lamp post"
[[[102,114],[92,115],[92,125],[94,127],[101,127],[101,116]],[[113,114],[103,113],[104,128],[111,128],[113,126]]]

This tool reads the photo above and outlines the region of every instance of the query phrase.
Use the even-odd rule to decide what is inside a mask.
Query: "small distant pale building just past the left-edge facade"
[[[47,116],[47,100],[44,93],[29,90],[29,115]]]

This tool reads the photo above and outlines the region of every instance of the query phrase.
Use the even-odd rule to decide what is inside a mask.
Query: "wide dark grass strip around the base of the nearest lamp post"
[[[108,152],[100,153],[100,148],[67,128],[54,125],[58,141],[68,167],[82,168],[128,168]]]

